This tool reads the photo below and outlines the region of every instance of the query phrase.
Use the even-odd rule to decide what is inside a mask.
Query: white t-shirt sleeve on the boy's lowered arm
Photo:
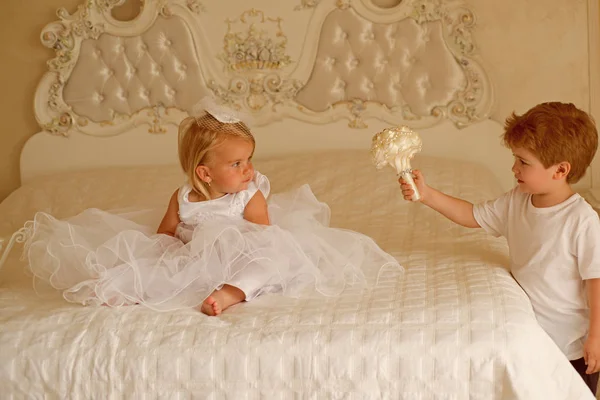
[[[600,278],[600,220],[586,218],[577,229],[575,256],[582,279]]]

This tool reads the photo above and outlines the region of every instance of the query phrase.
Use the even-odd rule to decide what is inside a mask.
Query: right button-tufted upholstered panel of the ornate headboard
[[[338,32],[347,40],[338,40]],[[376,100],[388,107],[398,105],[400,99],[413,112],[429,115],[437,105],[452,100],[455,93],[447,88],[461,90],[467,81],[443,43],[441,24],[437,22],[419,25],[406,19],[377,24],[352,9],[334,11],[323,24],[317,57],[335,54],[347,62],[343,68],[333,70],[315,64],[296,100],[313,111],[324,111],[355,98]],[[397,85],[400,82],[394,84],[392,71],[400,71],[402,86]],[[348,82],[343,92],[334,86],[336,76]],[[423,80],[422,76],[433,78]],[[367,79],[369,84],[361,83]],[[375,94],[374,87],[380,89]]]

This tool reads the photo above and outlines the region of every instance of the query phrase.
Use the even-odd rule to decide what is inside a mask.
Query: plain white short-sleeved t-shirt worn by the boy
[[[479,225],[508,241],[510,269],[537,320],[569,360],[583,357],[589,328],[584,280],[600,278],[600,220],[578,194],[537,208],[517,188],[477,204]]]

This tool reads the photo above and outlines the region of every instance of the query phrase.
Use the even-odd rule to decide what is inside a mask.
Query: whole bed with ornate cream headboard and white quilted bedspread
[[[505,242],[404,201],[371,164],[371,136],[407,124],[432,186],[473,202],[511,187],[467,6],[146,0],[117,21],[121,3],[87,0],[41,34],[55,51],[36,92],[42,131],[0,203],[3,398],[593,398],[536,323]],[[218,318],[83,307],[34,286],[24,223],[164,206],[183,179],[176,125],[206,94],[251,115],[274,192],[310,184],[333,226],[371,236],[404,271]]]

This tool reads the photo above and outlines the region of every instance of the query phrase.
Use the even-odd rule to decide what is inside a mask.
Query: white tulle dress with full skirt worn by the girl
[[[244,220],[258,190],[268,197],[269,180],[259,172],[247,190],[209,201],[190,202],[191,188],[182,186],[176,237],[156,234],[135,213],[88,209],[57,220],[39,212],[24,256],[36,280],[70,302],[160,311],[198,306],[224,284],[247,301],[269,292],[337,295],[367,285],[365,268],[401,269],[369,237],[328,227],[329,207],[308,185],[271,196],[272,225]]]

